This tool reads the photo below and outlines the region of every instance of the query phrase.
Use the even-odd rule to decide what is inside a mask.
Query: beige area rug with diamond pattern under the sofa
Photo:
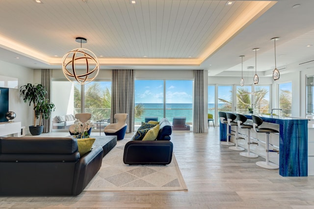
[[[84,191],[174,191],[187,190],[174,154],[168,165],[123,163],[123,139],[103,158],[101,169]]]

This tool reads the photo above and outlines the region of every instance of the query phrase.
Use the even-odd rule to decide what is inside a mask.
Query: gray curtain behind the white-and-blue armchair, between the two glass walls
[[[112,70],[111,115],[114,122],[116,113],[127,113],[127,133],[134,131],[134,74],[133,70]]]

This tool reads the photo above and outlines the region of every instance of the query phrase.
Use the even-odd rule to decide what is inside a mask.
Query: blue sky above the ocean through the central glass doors
[[[135,103],[192,103],[192,80],[135,80]]]

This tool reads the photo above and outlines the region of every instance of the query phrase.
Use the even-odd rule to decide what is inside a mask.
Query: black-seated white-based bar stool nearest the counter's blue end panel
[[[256,164],[262,168],[266,168],[266,169],[278,169],[279,165],[275,164],[275,163],[270,163],[269,162],[269,152],[277,152],[279,153],[278,150],[273,149],[273,150],[269,150],[269,134],[270,133],[279,133],[277,130],[275,129],[271,129],[271,128],[259,128],[260,125],[262,125],[263,120],[261,117],[258,116],[253,116],[252,115],[252,119],[253,119],[253,129],[255,132],[257,133],[265,133],[266,134],[266,145],[265,145],[265,151],[266,151],[266,161],[259,161],[256,162]]]

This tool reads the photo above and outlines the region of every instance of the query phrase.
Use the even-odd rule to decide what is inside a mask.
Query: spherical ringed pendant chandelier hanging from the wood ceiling
[[[85,38],[77,37],[76,42],[80,43],[80,48],[73,49],[63,56],[62,70],[69,81],[83,85],[97,77],[99,61],[92,51],[82,48],[82,43],[87,43]],[[83,65],[85,69],[81,69],[80,66]]]

